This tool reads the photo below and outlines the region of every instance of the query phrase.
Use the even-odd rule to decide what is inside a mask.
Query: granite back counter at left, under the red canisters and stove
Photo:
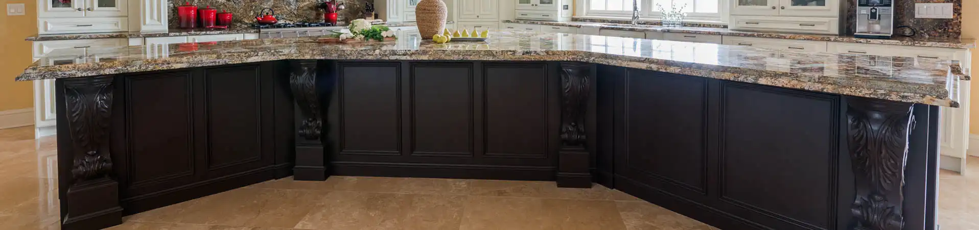
[[[454,23],[454,22],[448,22]],[[415,23],[385,23],[388,26],[414,26]],[[347,28],[347,25],[331,26],[332,29]],[[214,35],[214,34],[234,34],[234,33],[256,33],[257,28],[170,28],[166,32],[103,32],[103,33],[71,33],[71,34],[51,34],[34,35],[25,38],[27,41],[53,41],[53,40],[73,40],[73,39],[97,39],[97,38],[130,38],[130,37],[172,37],[172,36],[193,36],[193,35]]]

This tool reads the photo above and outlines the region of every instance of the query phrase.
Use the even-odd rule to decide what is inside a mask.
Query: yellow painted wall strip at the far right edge
[[[979,1],[962,1],[962,37],[979,38]],[[979,68],[979,49],[972,49],[972,69]],[[972,70],[972,75],[979,71]],[[973,77],[972,80],[972,99],[971,117],[969,117],[969,132],[979,134],[979,79]]]

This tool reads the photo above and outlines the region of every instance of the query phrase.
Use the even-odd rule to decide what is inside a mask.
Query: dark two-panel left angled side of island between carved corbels
[[[276,130],[291,133],[292,123],[276,120],[292,114],[275,108],[291,111],[293,102],[277,65],[116,76],[112,154],[124,212],[286,176],[282,161],[292,153],[281,147],[292,140]]]

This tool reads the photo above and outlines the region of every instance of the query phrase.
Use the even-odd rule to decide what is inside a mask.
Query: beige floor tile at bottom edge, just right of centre
[[[626,226],[611,201],[471,196],[460,229],[616,230]]]

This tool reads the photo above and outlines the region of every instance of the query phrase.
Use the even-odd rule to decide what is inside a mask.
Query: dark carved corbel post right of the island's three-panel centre
[[[557,186],[591,188],[591,154],[585,132],[587,102],[591,94],[590,65],[561,63],[561,148]]]

